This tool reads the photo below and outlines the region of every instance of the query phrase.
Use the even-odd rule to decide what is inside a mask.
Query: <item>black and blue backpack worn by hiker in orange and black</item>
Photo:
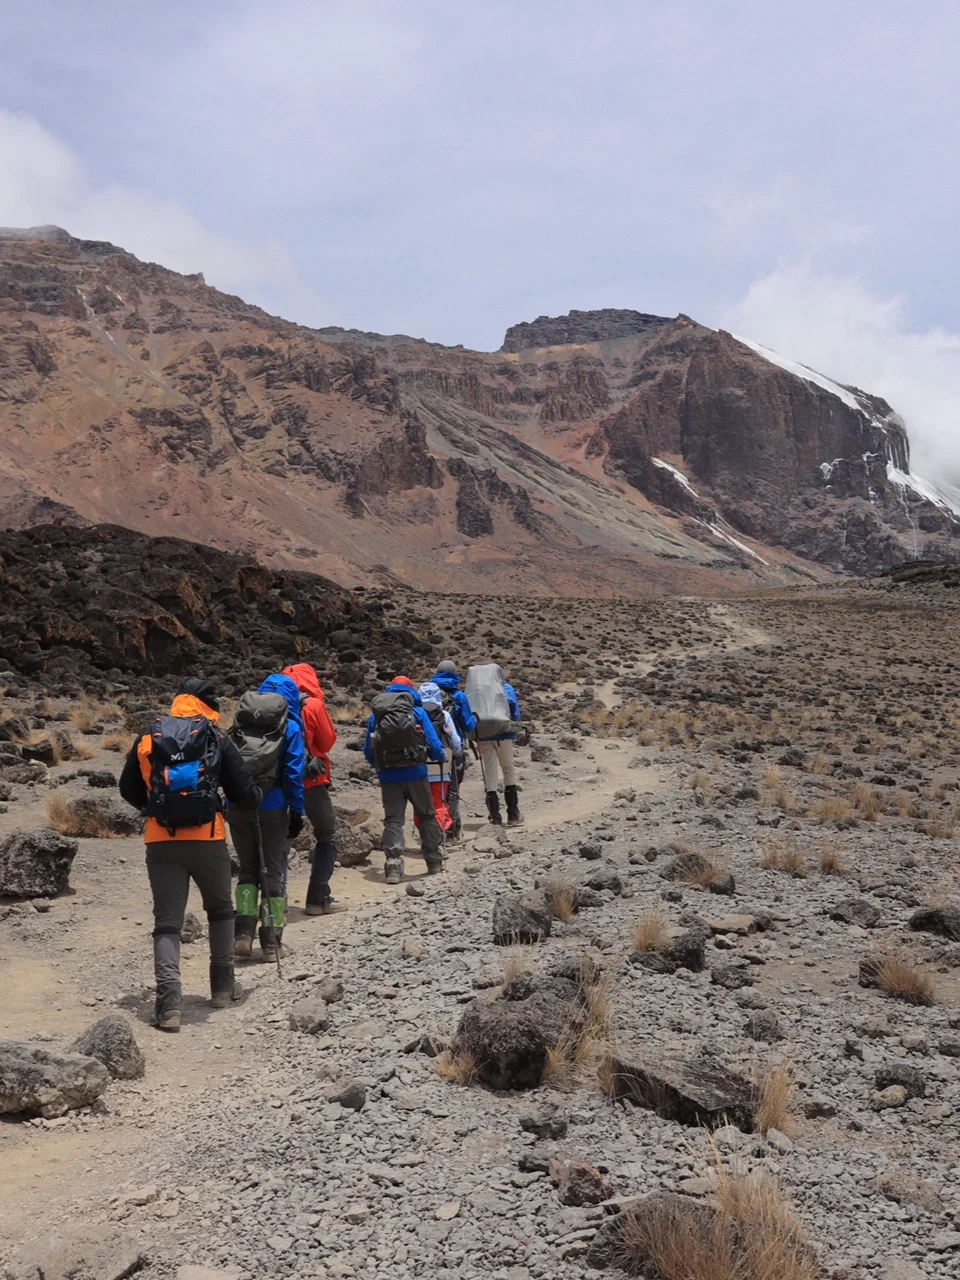
[[[215,831],[223,741],[206,716],[160,716],[150,731],[147,817],[170,836],[182,827]]]

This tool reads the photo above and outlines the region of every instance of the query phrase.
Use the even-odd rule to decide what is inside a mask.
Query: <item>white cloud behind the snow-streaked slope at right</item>
[[[755,280],[721,317],[724,328],[882,396],[906,421],[913,468],[960,480],[960,334],[913,329],[902,297],[806,264]]]

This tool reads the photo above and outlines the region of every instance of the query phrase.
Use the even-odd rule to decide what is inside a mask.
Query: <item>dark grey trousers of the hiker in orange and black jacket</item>
[[[161,840],[147,845],[154,895],[154,973],[157,989],[180,980],[180,929],[189,882],[200,890],[210,933],[210,960],[233,960],[230,855],[225,840]]]

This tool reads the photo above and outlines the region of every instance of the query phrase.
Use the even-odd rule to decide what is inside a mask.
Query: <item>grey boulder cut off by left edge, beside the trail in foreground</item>
[[[0,1112],[61,1116],[90,1106],[109,1083],[106,1068],[95,1057],[0,1041]]]

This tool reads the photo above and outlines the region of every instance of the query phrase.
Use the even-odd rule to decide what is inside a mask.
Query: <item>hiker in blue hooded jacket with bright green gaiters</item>
[[[289,676],[268,676],[256,692],[243,694],[229,736],[264,792],[259,809],[252,813],[227,806],[227,823],[241,864],[233,954],[252,955],[259,906],[271,925],[260,925],[260,952],[271,963],[283,945],[284,860],[291,841],[303,829],[306,756],[300,690]],[[260,901],[261,847],[266,864],[266,904]]]

